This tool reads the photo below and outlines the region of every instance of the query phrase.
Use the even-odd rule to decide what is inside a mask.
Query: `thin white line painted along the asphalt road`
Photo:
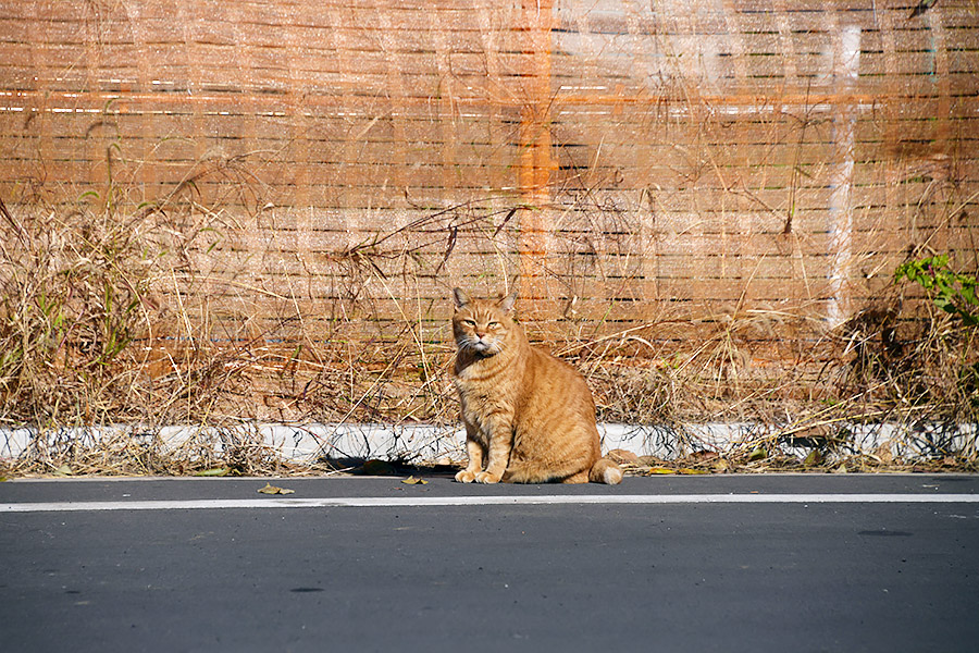
[[[187,501],[90,501],[0,504],[0,513],[86,513],[106,510],[216,510],[269,508],[371,508],[425,506],[516,506],[583,504],[825,504],[979,503],[979,494],[619,494],[543,496],[357,496],[333,498],[203,498]]]

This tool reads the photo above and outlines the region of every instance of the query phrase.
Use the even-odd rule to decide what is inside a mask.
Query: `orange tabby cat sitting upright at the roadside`
[[[453,295],[453,380],[469,453],[456,480],[621,482],[619,466],[602,457],[587,383],[573,367],[526,342],[510,317],[517,294],[470,299],[456,288]]]

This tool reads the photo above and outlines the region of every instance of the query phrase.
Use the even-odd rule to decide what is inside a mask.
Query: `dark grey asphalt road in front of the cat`
[[[426,478],[0,483],[0,649],[979,650],[979,477]]]

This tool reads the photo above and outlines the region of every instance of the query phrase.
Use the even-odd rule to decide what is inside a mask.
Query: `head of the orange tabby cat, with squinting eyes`
[[[459,352],[475,356],[495,356],[503,352],[507,334],[513,329],[516,291],[500,299],[471,299],[462,289],[453,289],[456,312],[453,334]]]

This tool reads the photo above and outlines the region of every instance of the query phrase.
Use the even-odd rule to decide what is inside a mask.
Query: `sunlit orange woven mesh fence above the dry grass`
[[[7,2],[0,194],[194,233],[157,285],[214,337],[442,341],[516,284],[545,338],[803,342],[976,264],[979,5],[912,5]]]

